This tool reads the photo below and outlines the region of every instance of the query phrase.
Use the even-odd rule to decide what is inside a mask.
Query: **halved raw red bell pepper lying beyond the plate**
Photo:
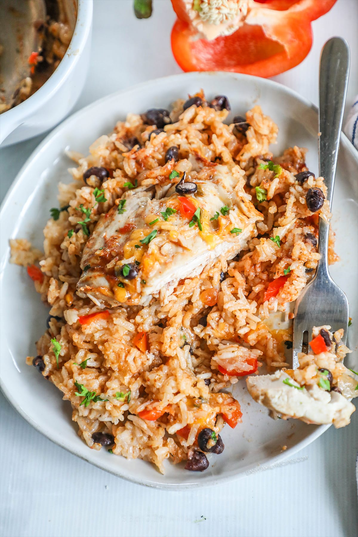
[[[184,0],[171,1],[178,16],[171,35],[172,51],[184,71],[270,77],[302,62],[312,46],[311,21],[329,11],[336,0],[255,2],[238,30],[210,41],[198,39]]]

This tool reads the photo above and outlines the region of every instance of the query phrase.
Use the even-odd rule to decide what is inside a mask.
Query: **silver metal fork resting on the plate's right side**
[[[326,199],[333,195],[335,169],[346,101],[349,73],[349,47],[344,39],[334,37],[322,49],[319,64],[319,175],[325,178]],[[313,326],[329,324],[333,331],[344,328],[346,343],[348,300],[328,272],[329,225],[319,219],[318,252],[320,259],[313,279],[298,296],[295,307],[293,369],[298,367],[298,352],[308,343]]]

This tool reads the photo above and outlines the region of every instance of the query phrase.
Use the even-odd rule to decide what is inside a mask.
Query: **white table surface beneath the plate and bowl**
[[[92,61],[75,110],[137,82],[180,72],[170,49],[169,0],[155,0],[149,20],[135,19],[131,4],[94,0]],[[353,101],[358,1],[338,0],[313,23],[313,33],[308,57],[276,81],[317,104],[320,49],[341,35],[352,52],[347,102]],[[0,150],[1,199],[42,138]],[[2,537],[353,537],[358,531],[358,412],[348,427],[331,427],[299,452],[301,462],[184,492],[127,483],[76,458],[32,429],[2,394],[0,416]]]

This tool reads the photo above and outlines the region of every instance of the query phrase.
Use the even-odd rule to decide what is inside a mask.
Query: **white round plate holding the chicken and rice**
[[[292,456],[322,434],[327,426],[305,425],[297,420],[276,422],[267,410],[251,400],[245,381],[236,384],[234,395],[242,404],[243,424],[235,430],[225,427],[225,451],[209,456],[210,466],[203,473],[185,471],[182,465],[166,461],[166,474],[142,460],[127,460],[94,451],[77,436],[71,421],[70,403],[60,391],[46,382],[34,367],[25,364],[26,355],[35,354],[34,342],[45,330],[47,308],[28,278],[25,269],[9,264],[9,238],[26,237],[42,249],[42,229],[50,207],[57,206],[57,183],[69,182],[71,162],[64,149],[87,153],[101,134],[110,132],[128,112],[145,112],[151,107],[167,107],[203,88],[207,96],[227,95],[231,117],[255,104],[277,122],[279,142],[274,154],[294,146],[309,149],[309,169],[318,172],[317,110],[290,89],[263,78],[229,73],[182,74],[140,84],[98,100],[83,108],[57,127],[28,159],[14,182],[1,212],[1,387],[14,408],[38,431],[71,453],[136,483],[162,488],[190,488],[215,484],[245,475],[258,465],[268,465]],[[357,153],[342,135],[337,182],[333,203],[333,226],[341,262],[332,268],[334,280],[350,301],[350,316],[357,320]],[[320,320],[317,320],[320,324]],[[353,326],[352,326],[353,328]],[[352,330],[352,329],[351,329]],[[352,330],[354,338],[357,331]],[[356,340],[350,345],[356,348]],[[287,446],[286,451],[282,450]]]

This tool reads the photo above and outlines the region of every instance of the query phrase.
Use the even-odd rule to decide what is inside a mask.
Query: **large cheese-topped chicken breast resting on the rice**
[[[125,211],[113,207],[99,220],[83,252],[80,296],[101,306],[148,303],[219,256],[235,257],[257,234],[262,215],[237,172],[207,166],[195,172],[193,193],[176,185],[162,199],[141,187],[126,192]]]

